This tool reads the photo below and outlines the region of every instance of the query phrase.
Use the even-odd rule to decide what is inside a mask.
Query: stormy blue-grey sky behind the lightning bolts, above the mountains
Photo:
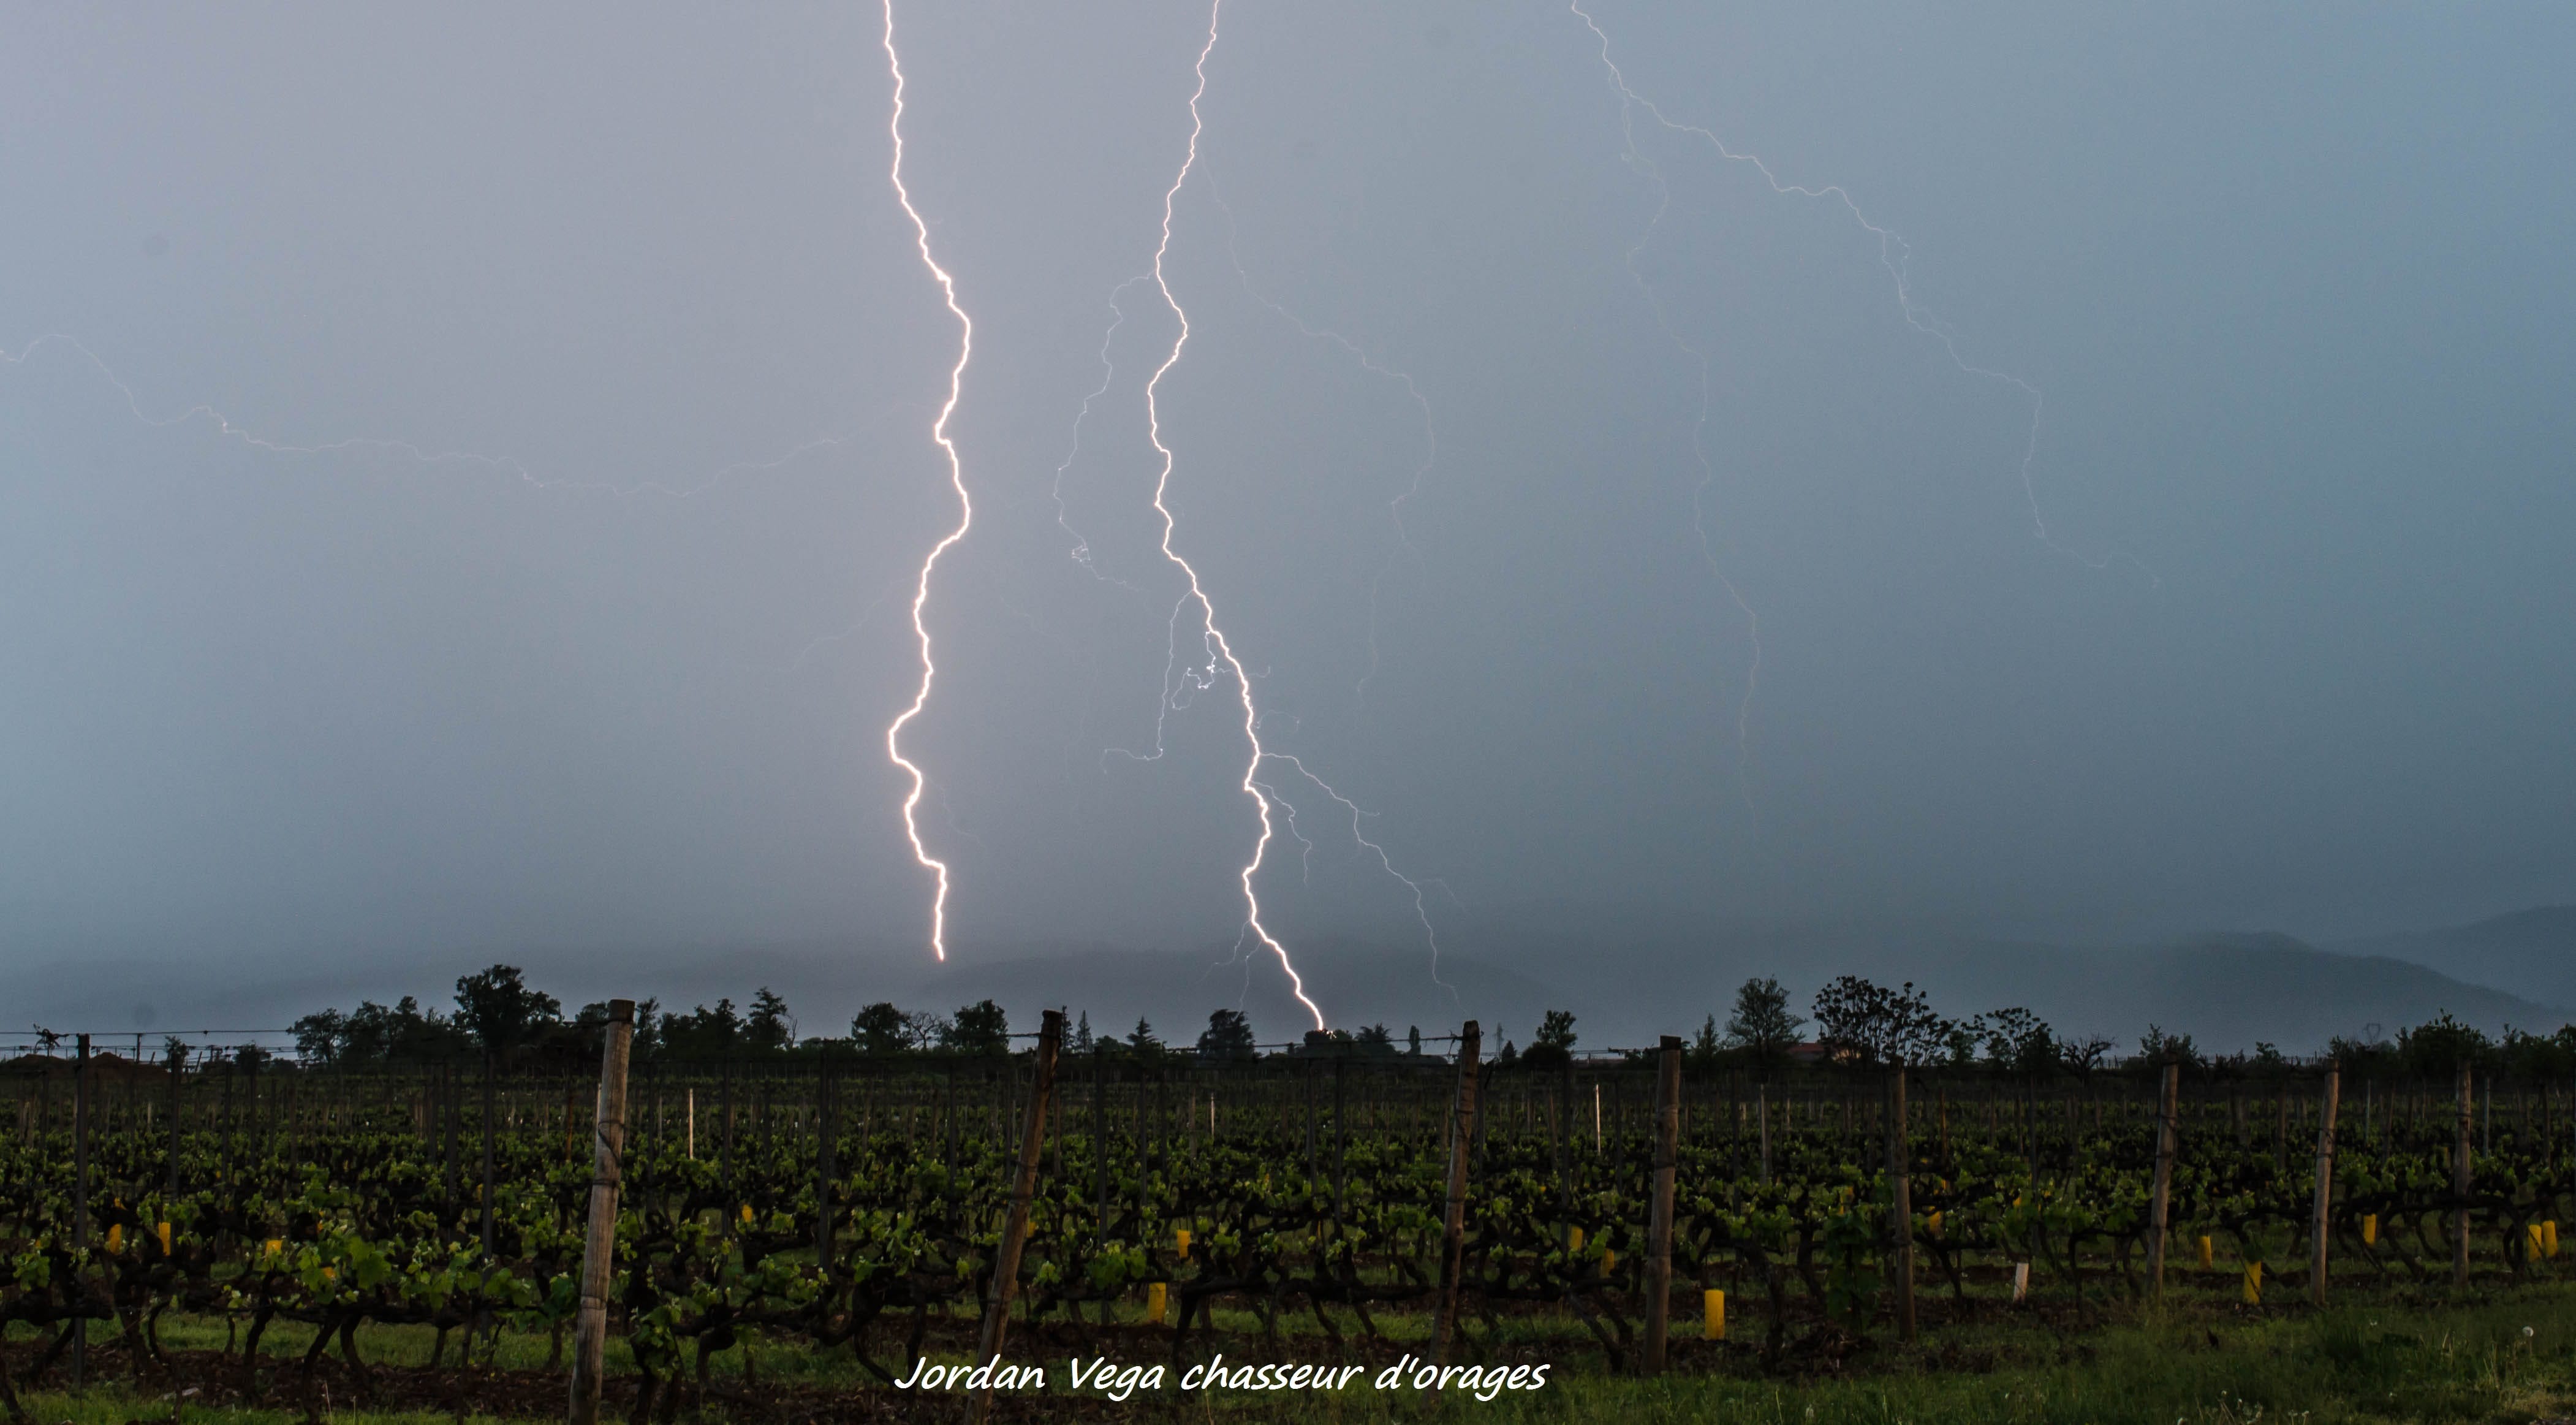
[[[1901,232],[1947,343],[1837,198],[1643,111],[1631,162],[1561,5],[1229,0],[1175,539],[1265,745],[1453,951],[1522,902],[2110,941],[2576,899],[2576,15],[1595,13],[1664,116]],[[907,742],[953,943],[1231,941],[1234,688],[1133,758],[1175,320],[1121,289],[1208,13],[896,26],[976,320]],[[868,5],[0,23],[0,953],[925,956],[884,727],[956,327],[889,95]],[[1265,781],[1311,843],[1273,928],[1414,946],[1352,814]]]

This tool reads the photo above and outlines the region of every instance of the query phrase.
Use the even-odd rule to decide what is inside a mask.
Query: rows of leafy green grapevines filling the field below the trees
[[[291,1394],[330,1355],[366,1392],[366,1332],[392,1325],[435,1332],[433,1368],[502,1335],[559,1361],[598,1064],[10,1062],[0,1392],[113,1358]],[[611,1397],[670,1417],[752,1379],[752,1343],[886,1386],[969,1355],[1023,1170],[1002,1299],[1025,1358],[1376,1363],[1453,1332],[1476,1363],[1829,1371],[2002,1312],[2563,1273],[2566,1085],[2383,1069],[1685,1067],[1680,1041],[1492,1062],[1471,1036],[1221,1064],[1115,1041],[639,1059]],[[222,1350],[167,1348],[180,1319]],[[299,1358],[263,1353],[281,1322]]]

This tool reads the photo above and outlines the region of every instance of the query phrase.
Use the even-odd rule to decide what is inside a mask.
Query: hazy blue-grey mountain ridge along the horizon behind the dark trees
[[[2488,1031],[2550,1031],[2576,1002],[2576,953],[2555,935],[2576,910],[2545,907],[2460,930],[2385,935],[2331,948],[2277,933],[2210,933],[2179,943],[2079,948],[2002,941],[1963,928],[1899,923],[1705,925],[1582,912],[1579,907],[1443,925],[1437,977],[1419,943],[1298,938],[1311,997],[1337,1028],[1386,1023],[1445,1036],[1466,1018],[1489,1044],[1528,1044],[1546,1010],[1571,1010],[1584,1046],[1641,1046],[1662,1033],[1726,1023],[1744,979],[1777,977],[1793,1008],[1837,974],[1914,982],[1955,1018],[2020,1005],[2061,1033],[2136,1044],[2148,1023],[2202,1049],[2272,1041],[2290,1054],[2334,1036],[2396,1033],[2437,1013]],[[2483,956],[2483,959],[2481,959]],[[1041,1008],[1087,1013],[1095,1033],[1126,1036],[1144,1018],[1167,1044],[1188,1044],[1216,1008],[1242,1008],[1265,1044],[1298,1038],[1311,1018],[1273,956],[1146,951],[1103,943],[956,946],[933,964],[917,946],[809,941],[788,946],[477,946],[435,956],[118,956],[0,961],[0,1023],[147,1033],[283,1028],[361,997],[417,995],[448,1005],[459,974],[492,961],[572,1010],[608,995],[659,997],[685,1010],[768,984],[786,995],[799,1033],[845,1033],[871,1000],[953,1013],[992,997],[1015,1026]],[[2447,974],[2445,974],[2447,971]],[[2558,995],[2522,984],[2566,987]],[[2517,992],[2519,990],[2519,992]],[[188,1015],[180,1020],[180,1015]],[[131,1041],[129,1041],[131,1044]]]

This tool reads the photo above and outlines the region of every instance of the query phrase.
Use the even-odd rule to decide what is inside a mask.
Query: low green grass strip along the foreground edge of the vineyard
[[[1388,1322],[1391,1327],[1396,1322]],[[1414,1322],[1401,1322],[1414,1325]],[[273,1332],[281,1376],[301,1355],[304,1332]],[[417,1337],[417,1340],[415,1340]],[[222,1345],[222,1325],[175,1322],[165,1340],[180,1348]],[[1242,1340],[1242,1337],[1239,1337]],[[425,1363],[430,1332],[368,1327],[371,1363]],[[1321,1343],[1283,1343],[1288,1355],[1324,1358]],[[2473,1301],[2439,1294],[2354,1301],[2334,1312],[2241,1312],[2215,1301],[2182,1301],[2161,1314],[2136,1314],[2087,1330],[2027,1317],[1947,1325],[1919,1350],[1878,1340],[1857,1353],[1811,1366],[1806,1379],[1762,1379],[1741,1353],[1713,1358],[1692,1343],[1692,1373],[1659,1381],[1615,1379],[1600,1353],[1574,1337],[1510,1330],[1494,1337],[1497,1358],[1540,1361],[1556,1353],[1543,1392],[1502,1392],[1492,1402],[1450,1392],[1376,1392],[1370,1376],[1342,1394],[1249,1394],[1177,1389],[1139,1392],[1113,1404],[1074,1394],[1061,1353],[1048,1353],[1048,1389],[1005,1399],[1005,1420],[1273,1420],[1280,1425],[1373,1422],[1741,1422],[1741,1425],[2251,1425],[2251,1422],[2512,1422],[2576,1417],[2576,1294],[2563,1286],[2488,1291]],[[451,1343],[453,1348],[453,1343]],[[1113,1353],[1115,1355],[1115,1353]],[[538,1371],[544,1337],[502,1337],[500,1366]],[[945,1358],[956,1358],[948,1353]],[[1139,1363],[1162,1355],[1136,1355]],[[1229,1361],[1260,1358],[1249,1340]],[[737,1376],[726,1363],[719,1381]],[[616,1373],[618,1366],[613,1363]],[[546,1376],[554,1379],[551,1373]],[[760,1350],[762,1386],[801,1392],[786,1415],[804,1420],[938,1420],[958,1415],[961,1397],[912,1397],[868,1384],[848,1350],[809,1353],[788,1345]],[[1167,1384],[1172,1384],[1167,1379]],[[129,1425],[170,1420],[162,1389],[98,1384],[23,1397],[39,1425]],[[526,1399],[559,1399],[528,1392]],[[327,1425],[453,1425],[453,1412],[322,1410]],[[551,1415],[551,1410],[546,1412]],[[775,1417],[781,1412],[762,1412]],[[623,1420],[623,1410],[613,1410]],[[750,1415],[737,1415],[750,1417]],[[188,1407],[185,1425],[299,1425],[301,1407]],[[466,1425],[492,1420],[469,1415]],[[711,1407],[706,1420],[726,1420]]]

